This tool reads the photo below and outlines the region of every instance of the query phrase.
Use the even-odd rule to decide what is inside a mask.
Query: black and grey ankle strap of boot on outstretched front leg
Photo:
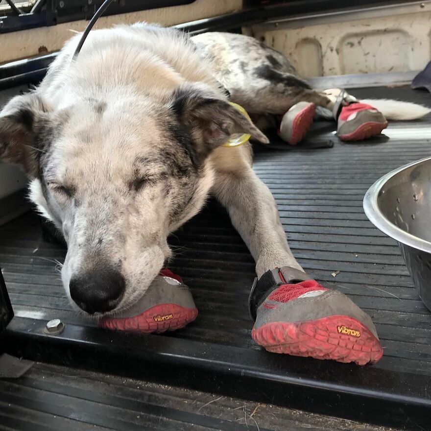
[[[305,280],[312,280],[312,277],[290,266],[266,271],[260,279],[256,277],[251,287],[250,296],[248,297],[250,316],[253,320],[256,320],[256,311],[259,306],[271,292],[281,285],[292,285]]]

